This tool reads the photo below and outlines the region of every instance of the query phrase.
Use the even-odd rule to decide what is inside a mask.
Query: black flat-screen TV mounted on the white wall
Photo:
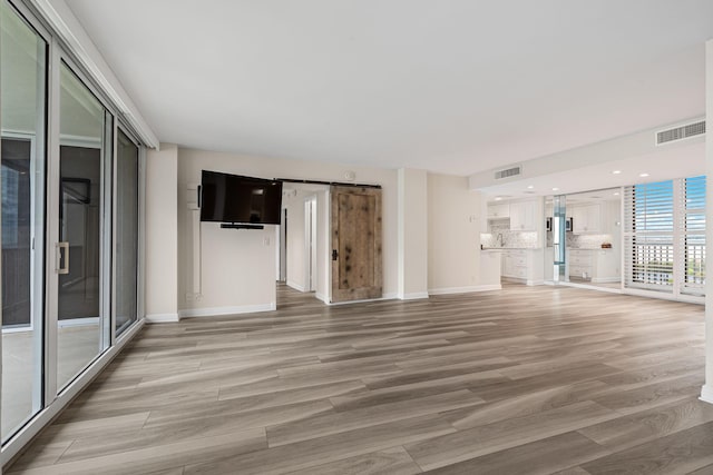
[[[203,170],[201,220],[279,225],[282,181]]]

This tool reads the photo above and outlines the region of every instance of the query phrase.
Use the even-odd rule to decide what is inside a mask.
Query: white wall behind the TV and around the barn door
[[[255,176],[260,178],[294,178],[313,179],[321,181],[343,181],[346,171],[354,171],[356,182],[375,184],[383,187],[383,269],[384,269],[384,295],[395,296],[397,293],[397,171],[378,168],[344,167],[333,164],[323,164],[304,160],[285,160],[265,157],[250,157],[236,154],[213,152],[194,149],[178,149],[178,190],[179,199],[177,204],[178,212],[178,243],[179,243],[179,279],[178,295],[183,296],[179,303],[182,315],[203,315],[238,313],[240,307],[244,310],[268,308],[275,301],[275,273],[276,267],[274,243],[274,229],[266,227],[264,235],[262,231],[236,231],[219,229],[217,226],[202,225],[201,227],[201,267],[202,267],[202,295],[195,298],[186,298],[193,285],[191,281],[192,261],[194,260],[193,243],[189,214],[187,204],[193,199],[188,190],[189,184],[201,181],[201,170],[216,170],[228,174]],[[303,211],[303,200],[300,200]],[[318,196],[319,222],[328,222],[324,216],[325,208],[322,201],[328,202],[325,195]],[[295,224],[294,215],[290,217],[290,228],[292,232]],[[329,216],[329,215],[328,215]],[[268,229],[270,228],[270,229]],[[321,227],[321,229],[323,229]],[[270,246],[264,245],[264,238],[270,238]],[[329,241],[328,241],[329,243]],[[320,254],[326,256],[329,244],[318,241]],[[262,256],[262,251],[265,251]],[[260,261],[254,258],[260,256]],[[323,257],[322,257],[323,258]],[[264,260],[263,260],[264,259]],[[290,253],[289,253],[290,259]],[[222,265],[233,266],[233,274],[229,279],[212,277],[213,269],[211,263],[223,263]],[[255,274],[252,267],[245,267],[244,263],[260,265],[266,270],[265,275]],[[263,264],[260,264],[263,263]],[[321,268],[325,268],[329,263],[318,263]],[[241,280],[237,274],[248,275],[252,278]],[[302,277],[303,279],[304,277]],[[329,280],[326,276],[320,278],[318,285],[318,296],[329,297]],[[234,285],[240,281],[241,285]]]

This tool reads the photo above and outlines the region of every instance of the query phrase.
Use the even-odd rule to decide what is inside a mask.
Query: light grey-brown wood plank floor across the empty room
[[[22,474],[713,473],[702,306],[557,287],[148,325]]]

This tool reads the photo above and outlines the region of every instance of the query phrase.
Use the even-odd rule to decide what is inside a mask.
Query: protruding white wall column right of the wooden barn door
[[[398,179],[398,297],[428,298],[428,172],[401,168]]]

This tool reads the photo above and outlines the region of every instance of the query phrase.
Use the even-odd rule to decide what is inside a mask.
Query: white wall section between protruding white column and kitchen
[[[429,294],[479,290],[480,198],[468,178],[428,175]]]

